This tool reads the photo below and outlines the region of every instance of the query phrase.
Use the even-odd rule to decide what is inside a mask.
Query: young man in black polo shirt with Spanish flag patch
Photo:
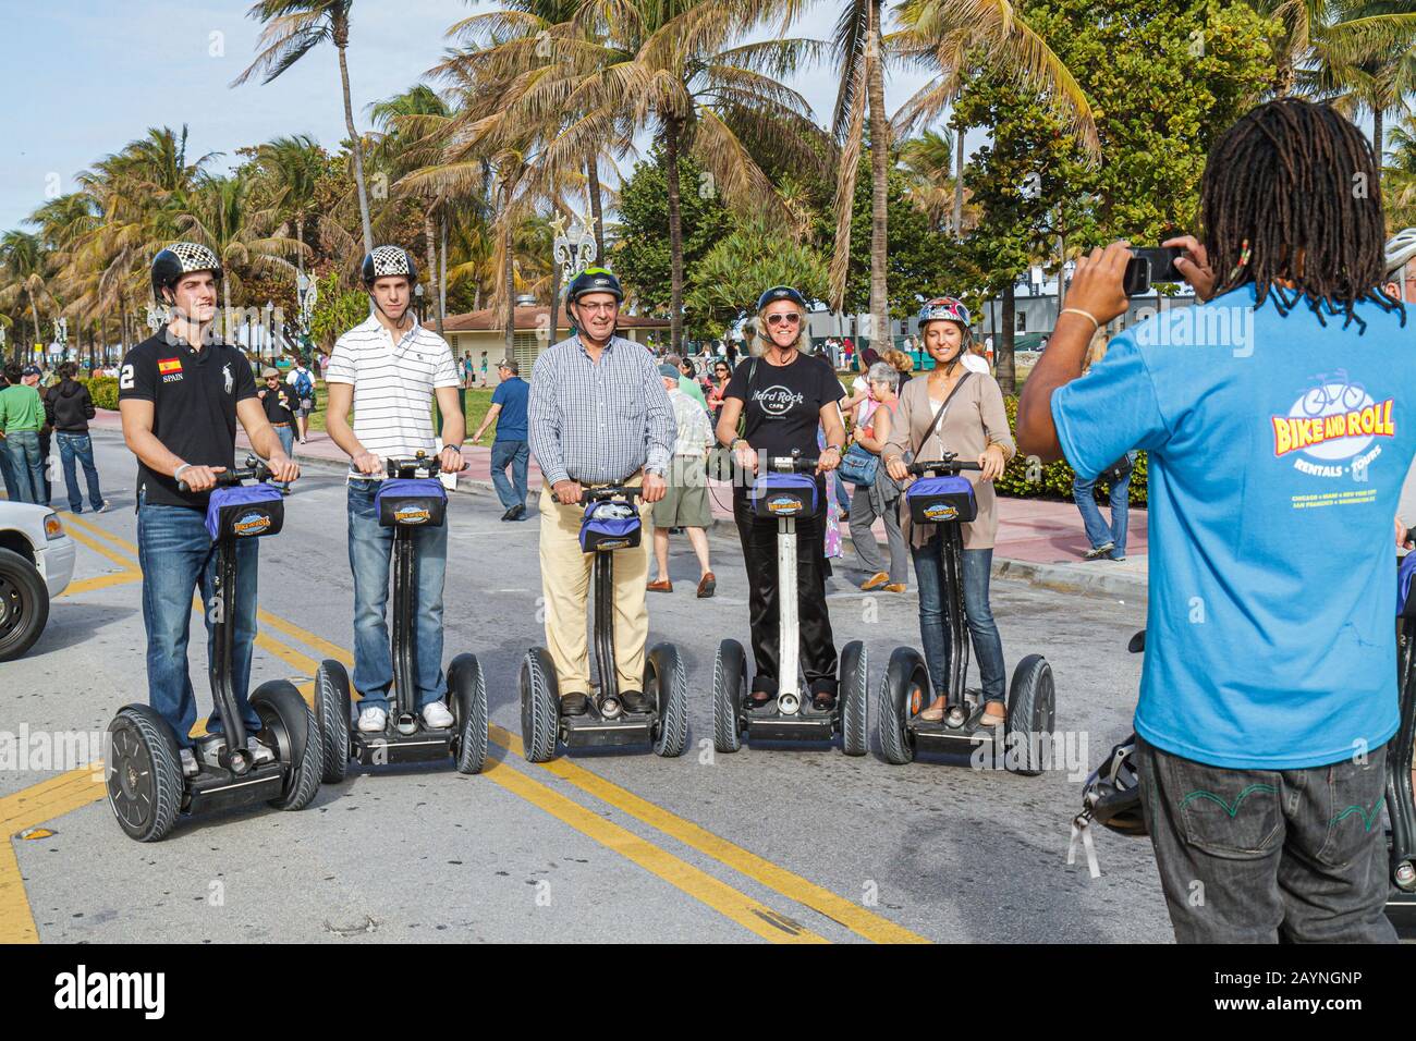
[[[149,702],[171,725],[183,770],[198,772],[197,700],[187,673],[187,635],[193,589],[204,603],[215,595],[215,545],[207,534],[207,499],[217,474],[235,466],[236,419],[258,455],[269,460],[276,480],[290,482],[300,467],[280,448],[261,401],[251,364],[235,347],[212,336],[221,263],[205,246],[176,242],[153,261],[153,295],[173,309],[167,327],[137,344],[123,358],[118,401],[123,439],[137,456],[137,551],[143,569],[143,625],[147,630]],[[187,484],[187,491],[177,487]],[[246,702],[251,646],[256,635],[256,540],[236,544],[236,618],[231,680],[236,704],[255,735],[261,719]],[[212,653],[212,619],[207,613],[207,654]],[[222,744],[219,707],[207,722],[212,736],[201,746],[215,762]],[[249,738],[256,762],[273,751]]]

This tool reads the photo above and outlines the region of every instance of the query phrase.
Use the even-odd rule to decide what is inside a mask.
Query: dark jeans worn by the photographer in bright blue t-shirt
[[[1383,914],[1386,748],[1300,770],[1205,766],[1136,739],[1181,943],[1395,943]]]

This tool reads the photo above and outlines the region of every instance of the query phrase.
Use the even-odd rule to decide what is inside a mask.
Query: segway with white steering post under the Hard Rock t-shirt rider
[[[796,518],[817,510],[816,459],[800,453],[763,456],[749,500],[759,517],[777,521],[777,697],[763,705],[748,705],[748,656],[736,640],[724,640],[712,667],[714,748],[736,752],[743,735],[749,741],[833,741],[841,735],[841,751],[865,755],[868,732],[865,644],[851,640],[838,660],[840,690],[831,708],[816,708],[801,677],[801,636],[797,620],[797,531]]]

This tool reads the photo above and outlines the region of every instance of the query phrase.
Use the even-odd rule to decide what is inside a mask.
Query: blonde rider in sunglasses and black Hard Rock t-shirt
[[[800,605],[801,674],[817,708],[835,704],[835,644],[826,610],[826,480],[841,462],[845,428],[841,422],[841,384],[824,360],[801,353],[806,341],[806,299],[792,286],[773,286],[758,299],[758,337],[724,391],[718,440],[732,445],[738,466],[756,473],[758,456],[820,455],[817,511],[797,518],[797,589]],[[742,435],[738,421],[743,419]],[[817,426],[826,428],[827,449],[818,450]],[[777,524],[758,517],[745,482],[735,482],[732,513],[748,568],[749,625],[756,676],[748,707],[766,705],[777,695]]]

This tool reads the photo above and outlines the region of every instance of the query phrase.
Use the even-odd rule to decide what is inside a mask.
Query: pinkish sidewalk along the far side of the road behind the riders
[[[98,409],[89,426],[115,433],[122,431],[118,412],[106,409]],[[238,429],[238,456],[249,448],[245,432]],[[344,453],[327,433],[320,431],[312,431],[304,445],[296,445],[295,456],[300,463],[320,469],[344,470],[347,466]],[[464,445],[463,459],[467,462],[467,469],[457,479],[459,490],[491,491],[490,445]],[[541,470],[534,457],[527,483],[532,491],[539,491]],[[718,534],[731,535],[733,533],[731,490],[726,484],[714,484],[709,491]],[[1102,516],[1109,517],[1110,508],[1103,506]],[[884,548],[885,525],[877,521],[874,530]],[[851,538],[845,525],[841,525],[841,537],[847,542]],[[1144,510],[1131,510],[1124,561],[1083,561],[1082,554],[1087,547],[1082,517],[1072,503],[1042,499],[998,500],[998,538],[993,551],[994,576],[1021,578],[1051,589],[1121,601],[1146,598]],[[851,567],[854,567],[854,551],[847,554],[847,569]]]

